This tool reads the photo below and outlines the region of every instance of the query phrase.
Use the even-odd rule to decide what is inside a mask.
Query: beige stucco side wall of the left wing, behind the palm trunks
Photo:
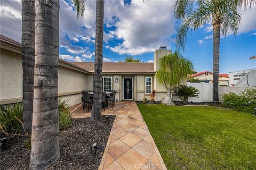
[[[21,54],[1,48],[0,64],[1,104],[22,101]],[[86,90],[86,74],[66,67],[59,67],[58,77],[59,97],[69,99],[71,106],[81,103],[81,92]]]

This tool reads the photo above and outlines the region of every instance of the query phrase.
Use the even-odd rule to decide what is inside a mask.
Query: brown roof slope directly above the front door
[[[93,62],[73,62],[83,69],[94,72]],[[106,73],[155,73],[154,63],[103,63],[102,72]]]

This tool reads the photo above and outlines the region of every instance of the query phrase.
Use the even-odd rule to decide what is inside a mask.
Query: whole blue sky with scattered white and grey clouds
[[[21,41],[21,2],[1,2],[1,34]],[[160,46],[175,50],[179,21],[172,13],[174,1],[105,1],[103,61],[117,62],[132,55],[143,62],[154,60]],[[241,11],[242,23],[236,37],[221,38],[220,72],[252,69],[256,61],[256,9]],[[77,19],[72,1],[60,1],[60,58],[93,62],[95,1],[86,1],[84,18]],[[196,71],[212,71],[212,27],[206,24],[190,31],[184,56]]]

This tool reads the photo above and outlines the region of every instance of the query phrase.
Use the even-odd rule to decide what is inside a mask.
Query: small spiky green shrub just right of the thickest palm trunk
[[[66,130],[72,123],[72,113],[70,111],[59,112],[59,129]]]

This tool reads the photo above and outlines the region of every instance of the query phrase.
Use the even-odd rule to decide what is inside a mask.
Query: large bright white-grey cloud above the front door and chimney
[[[159,46],[168,46],[174,41],[175,19],[171,13],[174,1],[107,1],[105,7],[107,23],[117,28],[111,32],[123,43],[109,49],[118,54],[137,55],[154,52]],[[113,23],[112,16],[119,21]]]

